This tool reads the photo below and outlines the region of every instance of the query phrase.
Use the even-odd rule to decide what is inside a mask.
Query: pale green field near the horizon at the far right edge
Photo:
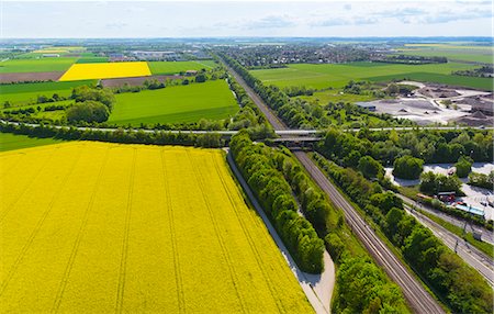
[[[405,45],[405,48],[398,49],[397,54],[412,56],[440,56],[450,60],[475,61],[493,64],[494,49],[489,46],[462,46],[447,44],[416,44]]]

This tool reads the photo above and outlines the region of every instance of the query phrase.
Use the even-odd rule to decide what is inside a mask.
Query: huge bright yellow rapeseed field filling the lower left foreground
[[[224,153],[0,154],[0,313],[311,313]]]

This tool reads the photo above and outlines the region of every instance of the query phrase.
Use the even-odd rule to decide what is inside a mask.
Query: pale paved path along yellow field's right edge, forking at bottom
[[[293,274],[299,280],[299,283],[302,287],[305,295],[307,296],[308,302],[311,302],[317,314],[330,313],[332,292],[335,287],[335,266],[332,258],[329,257],[329,254],[325,251],[325,270],[323,273],[312,274],[300,270],[289,250],[284,246],[283,242],[281,240],[280,236],[278,235],[277,231],[269,221],[268,216],[266,215],[265,211],[262,210],[261,205],[254,195],[252,191],[250,190],[250,187],[247,184],[237,166],[235,165],[232,154],[227,154],[226,160],[228,161],[232,171],[234,172],[235,177],[247,194],[247,198],[250,200],[250,203],[254,205],[257,213],[265,222],[266,227],[274,239],[274,243],[280,248],[280,251],[287,260]]]

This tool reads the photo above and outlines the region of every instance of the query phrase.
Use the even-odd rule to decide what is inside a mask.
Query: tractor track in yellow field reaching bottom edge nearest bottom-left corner
[[[60,284],[58,287],[58,291],[55,296],[55,301],[54,301],[54,304],[53,304],[53,307],[50,311],[52,313],[57,313],[58,309],[60,307],[61,299],[64,298],[65,289],[67,288],[68,279],[70,277],[70,272],[72,271],[74,262],[76,261],[76,257],[79,251],[79,246],[82,240],[82,236],[85,235],[85,232],[86,232],[86,226],[87,226],[88,220],[89,220],[89,213],[91,212],[92,206],[94,204],[94,199],[96,199],[96,195],[98,192],[99,182],[101,180],[101,177],[103,176],[103,172],[104,172],[104,169],[105,169],[105,166],[108,162],[109,153],[110,153],[110,148],[108,148],[105,152],[104,160],[101,164],[100,171],[98,172],[97,180],[94,181],[94,188],[92,189],[91,198],[89,199],[89,203],[88,203],[88,206],[86,208],[85,215],[82,217],[82,222],[79,227],[79,232],[77,233],[76,242],[74,243],[72,249],[70,251],[69,260],[65,268],[64,276],[61,277]]]

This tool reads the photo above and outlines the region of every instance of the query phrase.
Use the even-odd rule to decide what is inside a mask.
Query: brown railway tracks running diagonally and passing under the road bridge
[[[254,103],[266,115],[274,131],[289,131],[287,127],[263,103],[261,98],[245,82],[245,80],[234,71],[228,65],[223,63],[228,71],[234,76],[237,82],[246,90]],[[329,182],[317,166],[304,152],[293,152],[295,157],[305,167],[311,177],[326,192],[334,204],[340,208],[345,217],[367,247],[374,259],[383,267],[385,272],[398,284],[405,299],[416,313],[445,313],[438,302],[424,289],[424,287],[408,272],[401,261],[393,255],[390,248],[377,236],[371,227],[360,217],[351,204],[339,193],[339,191]]]

